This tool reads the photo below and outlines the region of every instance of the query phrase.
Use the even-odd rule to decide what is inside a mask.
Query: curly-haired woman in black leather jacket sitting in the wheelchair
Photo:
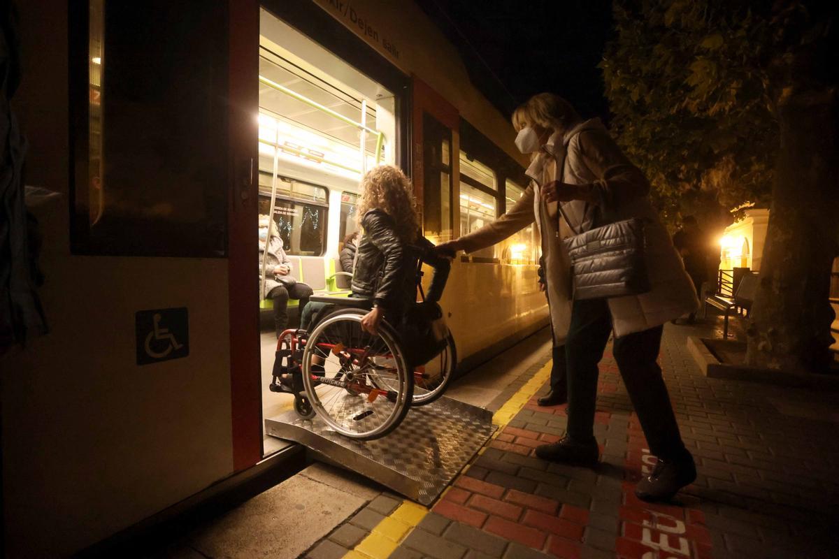
[[[373,309],[362,318],[362,329],[377,334],[383,317],[397,325],[416,301],[420,260],[435,268],[428,301],[440,299],[451,264],[437,256],[434,245],[422,236],[410,181],[399,168],[383,165],[364,175],[357,219],[363,233],[352,276],[352,296],[373,300]],[[309,329],[312,318],[325,306],[309,303],[300,328]]]

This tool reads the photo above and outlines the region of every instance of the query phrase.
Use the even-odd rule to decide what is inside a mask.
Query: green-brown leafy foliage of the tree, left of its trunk
[[[691,201],[716,199],[727,210],[766,203],[779,149],[769,3],[616,0],[613,15],[600,65],[612,123],[664,219]]]

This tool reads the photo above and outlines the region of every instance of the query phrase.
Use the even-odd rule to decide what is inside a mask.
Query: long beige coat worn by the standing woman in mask
[[[561,144],[559,139],[558,134],[551,137],[546,147],[549,153],[539,153],[534,158],[528,168],[533,180],[519,202],[498,220],[461,236],[463,250],[473,252],[492,246],[535,222],[545,256],[554,342],[563,344],[571,323],[572,294],[570,261],[560,238],[573,233],[564,220],[549,218],[545,201],[539,196],[539,186],[554,180],[555,169],[559,168],[563,182],[591,184],[598,200],[597,204],[589,204],[587,212],[586,204],[580,202],[565,206],[570,210],[566,212],[569,218],[576,221],[573,225],[577,230],[581,223],[590,226],[596,219],[598,225],[631,217],[645,221],[645,259],[652,288],[643,295],[609,299],[615,335],[650,329],[696,310],[699,302],[693,284],[650,203],[649,183],[644,174],[629,163],[599,119],[572,128],[561,137]]]

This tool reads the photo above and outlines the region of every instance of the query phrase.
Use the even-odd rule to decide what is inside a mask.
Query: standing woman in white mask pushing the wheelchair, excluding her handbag
[[[583,121],[560,96],[540,93],[513,114],[513,127],[519,132],[519,150],[536,154],[527,170],[533,182],[507,215],[440,250],[475,251],[535,220],[545,256],[551,326],[555,344],[564,342],[568,386],[565,437],[537,448],[536,455],[555,462],[597,463],[597,364],[613,331],[613,355],[650,451],[658,458],[653,474],[635,492],[645,500],[670,499],[696,479],[696,466],[681,440],[656,360],[663,324],[698,305],[690,277],[650,202],[649,182],[599,119]],[[524,217],[526,204],[533,204],[529,219]],[[650,291],[574,300],[570,262],[561,242],[573,233],[560,219],[558,204],[578,231],[629,218],[644,220]]]

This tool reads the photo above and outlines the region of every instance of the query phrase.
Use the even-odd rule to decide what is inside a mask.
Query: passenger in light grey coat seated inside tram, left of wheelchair
[[[259,216],[259,278],[262,280],[263,255],[265,254],[266,239],[268,237],[268,215]],[[309,303],[312,288],[303,282],[298,282],[291,275],[291,261],[283,250],[283,239],[272,227],[271,241],[268,242],[268,256],[265,259],[265,288],[261,293],[263,299],[274,301],[274,329],[277,337],[289,323],[289,298],[300,299],[299,308]]]

